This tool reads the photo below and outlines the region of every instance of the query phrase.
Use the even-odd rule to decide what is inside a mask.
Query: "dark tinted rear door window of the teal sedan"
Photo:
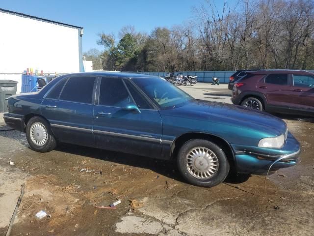
[[[71,77],[64,86],[60,99],[80,103],[92,103],[96,77]]]

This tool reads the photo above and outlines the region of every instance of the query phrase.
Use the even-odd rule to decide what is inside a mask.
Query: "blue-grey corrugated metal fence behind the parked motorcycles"
[[[156,75],[160,77],[165,77],[167,72],[133,72],[145,75]],[[229,77],[235,73],[235,71],[178,71],[175,74],[179,75],[192,75],[197,76],[198,82],[211,82],[212,77],[218,77],[220,83],[229,83]]]

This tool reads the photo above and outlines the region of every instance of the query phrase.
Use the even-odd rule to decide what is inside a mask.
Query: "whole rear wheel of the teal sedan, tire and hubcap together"
[[[49,123],[41,117],[32,117],[26,125],[26,138],[30,147],[38,152],[52,151],[56,140]]]

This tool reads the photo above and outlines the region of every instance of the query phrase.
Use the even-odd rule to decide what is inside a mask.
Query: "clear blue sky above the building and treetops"
[[[222,0],[212,0],[222,8]],[[235,0],[229,0],[232,4]],[[84,28],[83,52],[97,45],[98,33],[114,33],[127,25],[150,33],[155,27],[188,22],[193,7],[206,0],[0,0],[0,8]]]

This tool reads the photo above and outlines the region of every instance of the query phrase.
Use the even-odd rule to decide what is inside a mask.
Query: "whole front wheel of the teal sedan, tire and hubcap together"
[[[177,164],[185,180],[202,187],[221,183],[230,169],[224,151],[216,144],[202,139],[187,141],[179,150]]]

